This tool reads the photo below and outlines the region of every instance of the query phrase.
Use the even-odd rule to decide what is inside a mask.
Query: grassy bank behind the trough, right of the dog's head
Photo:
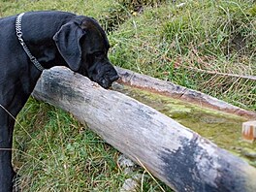
[[[255,76],[255,18],[253,1],[147,7],[112,32],[111,59],[255,111],[255,80],[219,75]]]

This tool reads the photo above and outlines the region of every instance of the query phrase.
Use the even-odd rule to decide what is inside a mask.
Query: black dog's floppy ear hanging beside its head
[[[61,26],[53,36],[53,40],[61,54],[73,71],[78,71],[81,61],[80,39],[85,32],[79,23],[70,21]]]

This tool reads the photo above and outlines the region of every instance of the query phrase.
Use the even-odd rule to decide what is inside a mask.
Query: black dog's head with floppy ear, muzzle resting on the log
[[[109,41],[99,23],[91,17],[77,16],[63,25],[53,40],[71,70],[98,82],[104,88],[118,75],[108,58]]]

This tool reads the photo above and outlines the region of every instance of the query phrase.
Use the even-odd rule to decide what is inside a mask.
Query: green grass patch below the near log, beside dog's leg
[[[14,165],[23,191],[117,191],[129,177],[119,152],[70,113],[31,98],[17,120]],[[161,191],[144,170],[136,173],[144,174],[143,191]]]

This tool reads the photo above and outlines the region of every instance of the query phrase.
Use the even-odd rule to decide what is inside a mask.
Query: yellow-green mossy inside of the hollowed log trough
[[[123,92],[138,101],[172,117],[180,124],[199,133],[219,147],[230,150],[255,166],[256,161],[244,151],[256,151],[256,144],[247,144],[241,139],[241,124],[246,118],[236,114],[219,112],[188,102],[158,95],[134,87],[122,86]]]

